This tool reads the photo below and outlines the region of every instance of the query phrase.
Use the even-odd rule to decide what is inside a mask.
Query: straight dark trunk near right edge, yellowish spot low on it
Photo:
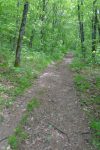
[[[93,17],[92,17],[92,59],[95,62],[96,51],[96,34],[97,34],[97,8],[95,6],[96,0],[93,2]]]

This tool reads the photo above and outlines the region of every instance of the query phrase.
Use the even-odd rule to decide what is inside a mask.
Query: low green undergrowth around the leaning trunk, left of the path
[[[4,107],[10,107],[16,97],[31,86],[34,79],[48,64],[63,56],[63,54],[57,54],[54,58],[53,55],[50,56],[43,52],[23,50],[21,66],[15,68],[13,67],[14,53],[7,52],[6,54],[4,52],[0,55],[0,111]]]

